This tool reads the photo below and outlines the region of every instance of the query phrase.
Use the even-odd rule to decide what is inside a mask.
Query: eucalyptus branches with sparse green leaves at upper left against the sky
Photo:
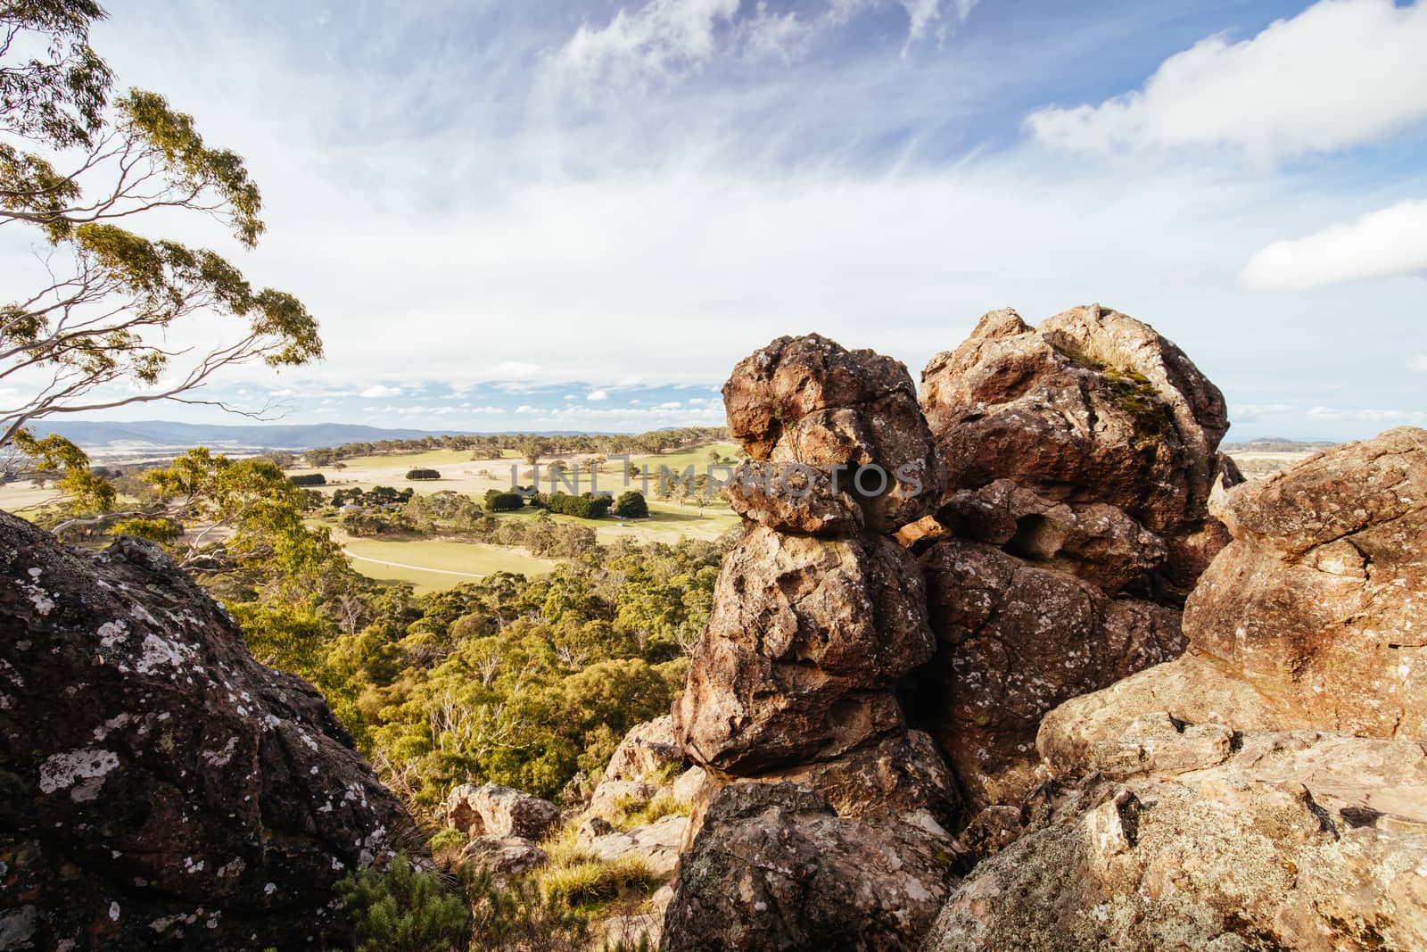
[[[103,17],[94,0],[0,0],[0,227],[31,230],[43,264],[0,303],[0,393],[17,394],[0,400],[0,448],[57,414],[223,405],[195,393],[220,370],[323,353],[291,294],[137,230],[188,213],[253,248],[263,201],[243,158],[207,144],[191,116],[157,93],[116,93],[88,41]],[[207,343],[167,343],[203,315],[223,321],[188,334]]]

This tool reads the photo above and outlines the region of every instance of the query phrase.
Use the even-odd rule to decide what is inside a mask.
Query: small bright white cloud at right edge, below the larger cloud
[[[1427,271],[1427,201],[1400,201],[1349,224],[1274,241],[1243,270],[1249,287],[1297,291]]]

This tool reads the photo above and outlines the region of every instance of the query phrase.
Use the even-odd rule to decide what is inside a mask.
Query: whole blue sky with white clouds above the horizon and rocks
[[[1423,3],[114,0],[94,41],[263,187],[257,251],[186,237],[320,317],[323,364],[211,388],[288,422],[718,424],[781,334],[916,375],[1099,301],[1230,440],[1346,438],[1427,425]]]

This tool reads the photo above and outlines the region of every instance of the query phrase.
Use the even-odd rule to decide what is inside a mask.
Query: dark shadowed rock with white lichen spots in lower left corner
[[[148,544],[0,514],[0,931],[13,949],[341,941],[411,822],[317,691]]]

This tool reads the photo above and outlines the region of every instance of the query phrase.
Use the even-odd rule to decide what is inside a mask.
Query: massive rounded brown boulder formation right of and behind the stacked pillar
[[[1180,655],[1180,602],[1227,541],[1237,472],[1219,391],[1146,324],[1099,305],[1032,328],[1010,310],[922,374],[949,470],[900,535],[920,554],[936,659],[918,716],[977,806],[1039,784],[1040,718]]]

